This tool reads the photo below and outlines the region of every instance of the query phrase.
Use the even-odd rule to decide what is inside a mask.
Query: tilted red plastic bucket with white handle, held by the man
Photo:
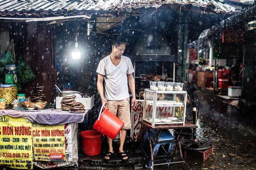
[[[111,139],[114,139],[123,127],[124,122],[116,117],[116,115],[111,113],[108,108],[106,108],[102,112],[104,105],[105,102],[102,104],[99,117],[96,120],[92,129],[101,132],[102,134],[110,137]]]

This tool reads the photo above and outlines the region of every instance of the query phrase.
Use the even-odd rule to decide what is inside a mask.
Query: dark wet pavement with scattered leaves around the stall
[[[213,94],[202,91],[196,92],[200,100],[197,121],[197,138],[202,141],[214,139],[214,152],[204,162],[184,159],[192,170],[251,170],[256,169],[256,116],[250,108],[238,108]],[[192,107],[187,107],[186,120],[192,120]],[[184,140],[183,140],[184,141]],[[117,153],[118,145],[114,145]],[[87,157],[79,153],[78,167],[58,169],[145,169],[145,155],[136,151],[139,143],[126,144],[129,161],[123,163],[118,156],[113,155],[111,161],[103,162],[107,144],[103,142],[101,154]],[[81,151],[81,150],[80,150]],[[176,155],[179,155],[178,153]],[[175,161],[181,160],[179,156]],[[156,170],[189,170],[185,163],[154,166]]]

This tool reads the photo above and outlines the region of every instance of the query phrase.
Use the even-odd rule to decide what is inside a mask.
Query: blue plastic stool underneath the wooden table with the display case
[[[152,130],[152,129],[149,129],[149,130],[150,130],[151,141],[154,142],[154,140],[157,138],[160,130]],[[146,133],[145,133],[145,135],[143,137],[143,141],[142,141],[142,143],[140,145],[141,148],[144,146],[146,138],[148,138],[148,130],[146,131]],[[164,147],[162,146],[162,145],[166,145],[166,144],[169,144],[168,151],[166,151],[164,149]],[[159,150],[160,146],[163,147],[166,155],[171,155],[172,149],[174,147],[174,136],[172,136],[172,134],[169,131],[168,132],[161,131],[161,134],[159,136],[158,141],[155,142],[155,145],[153,144],[153,157],[155,157],[156,154],[158,153],[158,150]],[[170,159],[165,159],[165,160],[170,162]],[[147,168],[149,168],[150,166],[151,166],[151,159],[146,164]]]

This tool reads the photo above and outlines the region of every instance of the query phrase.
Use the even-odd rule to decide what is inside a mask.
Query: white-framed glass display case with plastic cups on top
[[[155,124],[185,125],[186,91],[154,91],[145,89],[143,121]]]

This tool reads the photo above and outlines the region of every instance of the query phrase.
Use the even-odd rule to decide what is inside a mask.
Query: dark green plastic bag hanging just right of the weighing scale
[[[26,84],[36,78],[36,74],[34,74],[33,70],[27,63],[20,57],[18,62],[18,70],[17,70],[17,83],[18,84]]]

